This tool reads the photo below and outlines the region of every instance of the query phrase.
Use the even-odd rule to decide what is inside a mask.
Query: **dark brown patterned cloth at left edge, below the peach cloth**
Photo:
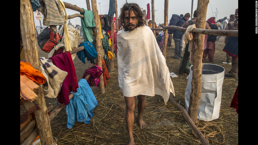
[[[26,122],[29,115],[39,109],[40,108],[35,101],[30,102],[24,99],[20,99],[20,124]]]

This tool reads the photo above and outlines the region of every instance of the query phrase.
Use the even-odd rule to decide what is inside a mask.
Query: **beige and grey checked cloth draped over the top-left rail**
[[[44,15],[43,25],[49,26],[54,34],[57,33],[56,25],[63,25],[65,16],[58,0],[43,0],[38,11]]]

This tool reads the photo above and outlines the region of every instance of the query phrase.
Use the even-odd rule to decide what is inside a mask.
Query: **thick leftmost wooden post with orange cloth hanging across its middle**
[[[20,27],[25,60],[27,63],[31,64],[34,69],[40,71],[41,69],[33,10],[31,7],[31,1],[29,0],[20,0]],[[54,145],[55,143],[52,136],[46,101],[44,98],[43,85],[38,85],[39,89],[35,90],[35,93],[38,95],[35,102],[40,107],[39,110],[35,111],[38,134],[42,145]]]

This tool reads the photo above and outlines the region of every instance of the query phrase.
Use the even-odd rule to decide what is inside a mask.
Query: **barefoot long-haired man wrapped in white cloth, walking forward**
[[[175,91],[165,57],[153,32],[145,26],[143,13],[138,4],[124,4],[119,21],[123,29],[117,33],[118,82],[126,102],[128,144],[131,145],[135,144],[135,96],[138,99],[137,123],[140,128],[145,128],[146,123],[141,117],[145,107],[145,96],[161,95],[166,104],[170,92],[175,95]]]

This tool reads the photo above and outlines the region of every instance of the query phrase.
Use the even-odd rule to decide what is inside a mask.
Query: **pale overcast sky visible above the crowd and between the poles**
[[[63,0],[63,2],[71,3],[76,5],[80,8],[87,9],[86,0]],[[109,2],[110,0],[96,0],[98,14],[108,14],[109,10]],[[127,0],[128,3],[137,3],[143,10],[147,12],[147,4],[150,3],[150,10],[151,10],[151,0]],[[193,11],[197,8],[197,0],[193,0]],[[100,3],[100,4],[99,4]],[[126,3],[126,0],[117,0],[117,11],[118,16],[120,15],[120,8],[122,8],[123,4]],[[155,22],[156,24],[164,23],[164,0],[154,0],[154,9],[155,11]],[[90,0],[91,5],[91,0]],[[192,0],[169,0],[168,1],[168,23],[172,17],[172,14],[183,14],[186,13],[191,14],[192,8]],[[207,13],[206,13],[206,20],[210,17],[216,17],[217,19],[221,19],[224,17],[229,18],[230,14],[235,13],[235,9],[238,8],[238,0],[210,0],[207,6]],[[92,10],[92,8],[91,8]],[[72,14],[80,14],[80,12],[73,11],[71,9],[66,9],[67,15]],[[40,25],[39,20],[36,20],[35,12],[34,14],[34,21],[35,25]],[[115,14],[114,14],[115,17]],[[150,17],[151,14],[150,14]],[[81,18],[76,17],[70,19],[70,22],[75,26],[76,24],[81,25]],[[67,22],[68,23],[68,22]],[[41,20],[41,25],[43,26],[43,20]]]

